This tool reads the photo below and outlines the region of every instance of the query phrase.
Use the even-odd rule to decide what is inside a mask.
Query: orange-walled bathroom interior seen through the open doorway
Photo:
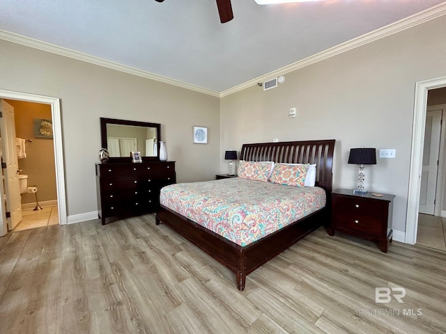
[[[52,135],[52,112],[49,104],[3,100],[14,110],[17,172],[20,178],[21,221],[8,230],[28,230],[59,224],[57,209],[56,170]],[[4,143],[2,143],[4,145]],[[5,184],[6,189],[8,185]],[[6,212],[13,191],[6,192]],[[8,217],[8,214],[7,214]],[[13,225],[13,226],[11,226]],[[13,227],[13,228],[11,228]]]

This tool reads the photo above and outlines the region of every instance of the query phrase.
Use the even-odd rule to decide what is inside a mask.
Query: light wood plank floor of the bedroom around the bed
[[[0,331],[445,333],[445,261],[321,228],[239,292],[231,271],[153,215],[53,225],[0,238]],[[404,303],[375,303],[375,287],[405,288]]]

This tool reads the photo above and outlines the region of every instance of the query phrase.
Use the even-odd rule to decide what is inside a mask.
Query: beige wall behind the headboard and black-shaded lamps
[[[252,86],[220,102],[221,152],[243,143],[336,139],[334,188],[357,186],[351,148],[394,148],[396,159],[364,168],[367,189],[393,193],[394,230],[406,230],[415,83],[446,76],[446,17],[415,26]],[[297,108],[297,117],[288,118]],[[220,154],[220,168],[227,163]]]

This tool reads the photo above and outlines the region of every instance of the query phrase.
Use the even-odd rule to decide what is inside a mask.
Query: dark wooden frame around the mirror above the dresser
[[[100,118],[100,137],[102,148],[107,148],[107,124],[130,125],[134,127],[155,127],[157,136],[157,156],[142,157],[142,161],[160,161],[161,125],[159,123],[138,122],[136,120],[116,120],[114,118]],[[132,157],[109,157],[109,163],[132,162]]]

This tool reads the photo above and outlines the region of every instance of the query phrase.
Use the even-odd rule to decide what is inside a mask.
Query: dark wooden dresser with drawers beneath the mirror
[[[95,168],[102,225],[125,216],[156,212],[160,189],[176,182],[174,161],[96,164]]]

